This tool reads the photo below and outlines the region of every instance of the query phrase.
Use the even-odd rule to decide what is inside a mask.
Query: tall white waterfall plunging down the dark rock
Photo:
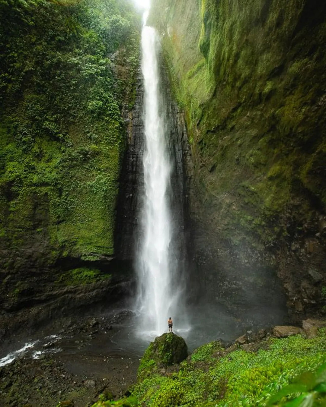
[[[174,317],[178,291],[170,264],[172,225],[168,188],[172,165],[167,151],[167,124],[160,92],[160,42],[154,28],[145,24],[141,46],[145,151],[142,233],[137,267],[138,298],[141,330],[151,335],[161,335],[167,331],[167,319]]]

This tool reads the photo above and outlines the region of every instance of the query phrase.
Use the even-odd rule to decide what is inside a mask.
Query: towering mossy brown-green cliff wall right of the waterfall
[[[154,0],[151,22],[187,119],[204,288],[270,306],[277,273],[293,319],[322,311],[326,5]]]

